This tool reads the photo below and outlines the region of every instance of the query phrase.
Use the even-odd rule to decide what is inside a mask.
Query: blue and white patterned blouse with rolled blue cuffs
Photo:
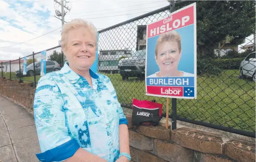
[[[127,120],[110,79],[89,71],[93,88],[68,63],[38,81],[34,117],[42,162],[60,162],[79,147],[115,162],[119,156],[119,124]]]

